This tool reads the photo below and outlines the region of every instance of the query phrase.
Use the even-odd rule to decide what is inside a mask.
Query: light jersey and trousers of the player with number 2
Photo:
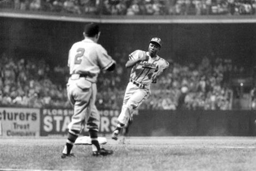
[[[115,61],[107,51],[90,39],[75,43],[69,51],[68,66],[70,75],[67,92],[68,99],[74,105],[74,115],[69,124],[69,131],[81,131],[87,123],[88,129],[98,131],[100,115],[95,106],[96,80],[100,70],[106,70]]]

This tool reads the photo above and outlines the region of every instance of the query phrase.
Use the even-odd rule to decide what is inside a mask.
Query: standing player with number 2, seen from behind
[[[96,23],[86,24],[84,40],[74,43],[69,50],[68,66],[70,78],[67,84],[68,99],[74,107],[68,131],[68,139],[62,152],[62,159],[72,157],[71,149],[84,126],[92,139],[93,155],[110,155],[112,150],[100,147],[97,141],[100,115],[95,106],[96,81],[101,69],[113,71],[115,61],[107,54],[105,48],[97,44],[100,29]]]

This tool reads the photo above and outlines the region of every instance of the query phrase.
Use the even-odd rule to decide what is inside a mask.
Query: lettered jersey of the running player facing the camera
[[[149,52],[143,50],[135,50],[132,52],[129,55],[129,60],[136,60],[145,55],[149,56],[149,60],[138,62],[133,66],[130,78],[137,83],[149,87],[152,80],[160,75],[163,72],[163,69],[169,66],[169,63],[158,55],[155,58],[151,58]]]

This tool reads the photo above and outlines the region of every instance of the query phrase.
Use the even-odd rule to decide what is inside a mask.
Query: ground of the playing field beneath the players
[[[128,137],[93,157],[75,145],[76,157],[61,159],[65,138],[0,138],[1,169],[47,170],[256,170],[254,137]]]

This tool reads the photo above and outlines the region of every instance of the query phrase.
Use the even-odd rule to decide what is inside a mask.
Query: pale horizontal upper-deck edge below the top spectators
[[[109,16],[109,15],[74,15],[55,12],[20,11],[0,9],[0,17],[28,18],[38,20],[99,22],[99,23],[256,23],[255,15],[240,16]]]

